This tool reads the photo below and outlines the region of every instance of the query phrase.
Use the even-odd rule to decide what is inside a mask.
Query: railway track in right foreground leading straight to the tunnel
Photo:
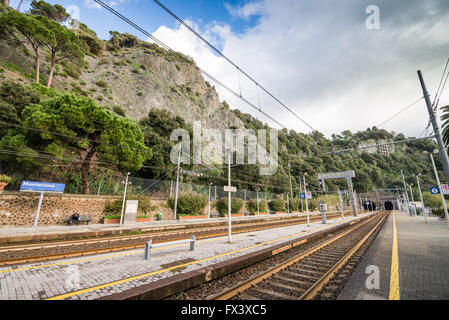
[[[264,270],[210,300],[311,300],[335,297],[344,285],[348,262],[359,260],[388,213],[356,225],[275,267]],[[353,266],[352,266],[353,267]],[[338,275],[338,279],[336,278]],[[331,284],[331,285],[329,285]]]

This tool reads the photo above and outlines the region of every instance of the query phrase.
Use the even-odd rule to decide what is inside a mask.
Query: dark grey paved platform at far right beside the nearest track
[[[394,267],[392,272],[393,220],[397,230],[397,282]],[[366,281],[373,275],[365,273],[369,266],[379,268],[379,289],[367,289]],[[369,281],[368,286],[370,283],[375,284]],[[399,287],[399,296],[394,295],[395,286]],[[394,217],[390,214],[339,300],[395,297],[400,300],[449,299],[449,230],[446,221],[431,217],[425,224],[423,217],[410,217],[402,211],[395,211]]]

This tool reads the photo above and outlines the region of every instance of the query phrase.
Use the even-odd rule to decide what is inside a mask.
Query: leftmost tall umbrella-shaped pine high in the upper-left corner
[[[50,36],[49,30],[35,17],[15,10],[0,15],[0,29],[33,49],[35,55],[36,83],[39,83],[39,50],[46,44]]]

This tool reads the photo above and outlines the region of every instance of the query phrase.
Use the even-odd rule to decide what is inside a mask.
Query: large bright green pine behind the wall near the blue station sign
[[[90,191],[89,169],[94,159],[114,163],[124,171],[139,170],[151,156],[136,123],[89,98],[66,94],[31,104],[24,109],[23,118],[27,126],[52,132],[40,133],[45,152],[62,157],[70,150],[81,155],[85,194]]]

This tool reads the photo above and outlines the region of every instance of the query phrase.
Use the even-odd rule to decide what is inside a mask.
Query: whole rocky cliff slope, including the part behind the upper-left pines
[[[81,69],[70,62],[57,66],[52,86],[91,97],[112,110],[120,107],[136,121],[151,109],[164,109],[190,124],[199,120],[203,128],[243,127],[190,58],[128,34],[115,33],[103,46],[106,50],[99,55],[86,54]],[[0,81],[32,83],[34,56],[29,48],[0,41],[0,49],[0,66],[6,71]],[[49,61],[41,60],[41,79],[45,81]]]

